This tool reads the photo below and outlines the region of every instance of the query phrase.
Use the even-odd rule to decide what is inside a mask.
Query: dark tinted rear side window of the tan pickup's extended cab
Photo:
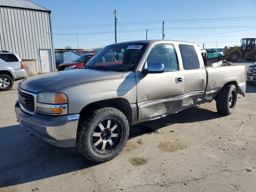
[[[200,63],[193,45],[179,44],[183,68],[185,70],[199,69]]]

